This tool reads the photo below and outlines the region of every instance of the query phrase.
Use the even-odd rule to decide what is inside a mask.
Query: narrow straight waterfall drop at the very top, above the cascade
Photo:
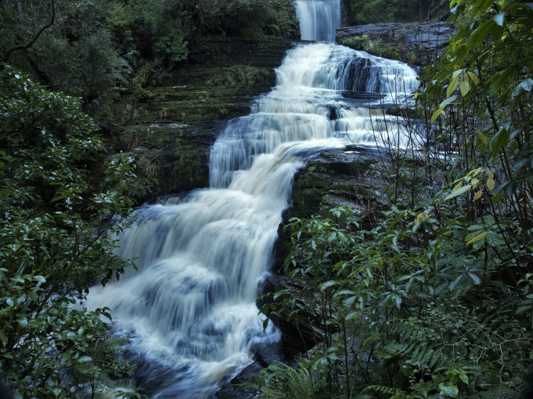
[[[302,40],[335,42],[341,27],[341,0],[296,0]]]

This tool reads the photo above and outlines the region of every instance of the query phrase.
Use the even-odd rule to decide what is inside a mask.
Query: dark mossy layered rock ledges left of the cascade
[[[133,151],[143,190],[173,194],[208,185],[207,154],[217,120],[248,115],[250,100],[270,91],[290,42],[280,39],[200,37],[190,63],[172,73],[139,75],[142,93],[116,103],[115,148]],[[195,63],[196,61],[196,63]],[[157,86],[151,86],[157,84]],[[201,129],[209,126],[209,132]]]

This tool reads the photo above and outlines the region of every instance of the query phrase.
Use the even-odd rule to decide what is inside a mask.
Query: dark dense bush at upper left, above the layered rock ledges
[[[0,62],[82,98],[99,124],[120,93],[149,96],[206,34],[296,37],[290,0],[62,0],[0,3]]]

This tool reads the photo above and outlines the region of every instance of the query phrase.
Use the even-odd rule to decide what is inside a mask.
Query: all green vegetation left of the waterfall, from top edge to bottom
[[[125,340],[109,337],[108,309],[88,312],[83,300],[90,286],[132,266],[112,253],[116,234],[133,198],[160,183],[155,155],[114,154],[150,130],[116,126],[143,116],[138,103],[154,97],[147,86],[168,77],[206,34],[297,35],[294,6],[0,1],[0,372],[14,397],[139,396],[120,382],[134,368],[121,360]],[[248,66],[230,71],[224,84],[266,76]],[[199,154],[175,157],[192,175],[203,167]]]

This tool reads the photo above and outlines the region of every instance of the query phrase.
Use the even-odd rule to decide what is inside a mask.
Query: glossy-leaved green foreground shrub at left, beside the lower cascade
[[[0,368],[15,397],[96,395],[131,370],[106,343],[107,309],[80,301],[131,266],[111,251],[134,164],[120,154],[93,176],[103,142],[79,101],[0,73]]]

